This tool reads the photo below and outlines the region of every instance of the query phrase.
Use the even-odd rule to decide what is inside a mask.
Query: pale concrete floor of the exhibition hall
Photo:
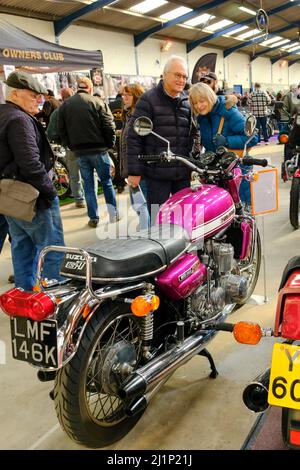
[[[282,153],[283,147],[274,144],[258,147],[252,155],[270,157],[279,168]],[[289,190],[289,183],[279,181],[279,211],[264,217],[268,302],[257,305],[259,297],[255,297],[233,313],[230,321],[243,319],[273,326],[281,273],[288,259],[300,253],[300,230],[294,231],[289,223]],[[125,204],[127,194],[118,198]],[[96,241],[96,231],[87,226],[84,209],[70,205],[62,209],[62,216],[68,245],[86,246]],[[130,223],[136,224],[133,212]],[[123,219],[120,227],[126,225]],[[259,226],[262,227],[261,219]],[[98,234],[103,234],[105,227],[103,223]],[[7,284],[12,272],[8,243],[0,263],[0,292],[3,292],[11,287]],[[261,269],[255,295],[263,294]],[[53,402],[48,397],[51,382],[39,382],[35,369],[12,359],[9,320],[3,314],[0,340],[0,449],[82,449],[58,425]],[[272,344],[273,339],[267,338],[256,347],[243,346],[235,343],[231,334],[219,333],[208,348],[219,371],[217,379],[208,377],[205,358],[193,358],[164,385],[136,427],[106,449],[240,449],[256,419],[243,405],[242,392],[269,365]]]

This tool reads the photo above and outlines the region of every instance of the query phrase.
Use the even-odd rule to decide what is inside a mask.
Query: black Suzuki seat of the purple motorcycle
[[[189,245],[189,236],[181,226],[158,225],[130,237],[101,240],[85,250],[92,257],[92,281],[103,284],[152,277],[166,269]],[[85,279],[84,257],[67,252],[61,274]]]

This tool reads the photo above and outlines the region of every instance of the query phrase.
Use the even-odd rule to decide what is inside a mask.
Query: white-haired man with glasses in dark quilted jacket
[[[153,131],[170,142],[174,154],[188,157],[197,136],[192,121],[188,96],[183,92],[188,78],[184,59],[172,56],[167,61],[159,84],[144,93],[137,102],[132,116],[127,139],[128,182],[138,186],[141,176],[145,177],[148,194],[147,203],[152,224],[158,208],[171,194],[190,185],[190,170],[182,163],[155,163],[148,165],[138,159],[140,154],[160,154],[167,150],[162,140],[150,134],[138,136],[132,123],[140,116],[147,116],[153,122]]]

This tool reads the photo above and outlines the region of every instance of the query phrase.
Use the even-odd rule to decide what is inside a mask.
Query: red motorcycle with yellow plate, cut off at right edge
[[[245,388],[243,400],[255,412],[281,407],[283,440],[300,449],[300,256],[283,272],[272,334],[284,341],[275,343],[271,367]]]

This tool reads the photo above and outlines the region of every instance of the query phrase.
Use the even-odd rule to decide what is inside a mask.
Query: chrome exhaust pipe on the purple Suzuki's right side
[[[193,336],[174,345],[149,364],[137,369],[119,389],[120,398],[123,400],[138,398],[139,400],[143,395],[151,392],[166,376],[172,375],[178,367],[204,349],[216,334],[217,331],[197,331]],[[142,402],[145,404],[144,400]]]

